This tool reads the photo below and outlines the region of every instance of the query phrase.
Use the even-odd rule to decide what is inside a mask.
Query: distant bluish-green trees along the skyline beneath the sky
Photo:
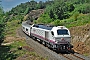
[[[42,1],[40,1],[39,3],[37,3],[36,1],[28,1],[26,3],[21,3],[20,5],[17,5],[15,8],[12,8],[11,11],[9,11],[10,15],[11,14],[15,14],[17,15],[19,14],[28,14],[29,11],[31,10],[36,10],[36,9],[43,9],[45,8],[47,5],[47,3],[44,3]]]

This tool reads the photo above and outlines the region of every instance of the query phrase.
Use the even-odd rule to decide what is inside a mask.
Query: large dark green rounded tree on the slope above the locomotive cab
[[[69,12],[73,11],[75,8],[70,2],[64,2],[62,0],[56,0],[54,2],[55,3],[52,4],[52,6],[49,6],[50,8],[47,7],[49,9],[46,8],[46,12],[49,12],[50,17],[53,16],[54,19],[56,18],[62,20],[68,18]]]

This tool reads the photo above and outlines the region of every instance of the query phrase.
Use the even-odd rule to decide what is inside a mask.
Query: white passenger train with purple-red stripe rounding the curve
[[[27,24],[22,22],[22,31],[34,40],[55,51],[71,51],[71,35],[65,26],[51,26],[44,24]]]

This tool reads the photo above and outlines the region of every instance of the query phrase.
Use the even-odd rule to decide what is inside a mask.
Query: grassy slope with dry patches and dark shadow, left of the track
[[[20,24],[18,24],[17,20],[7,22],[4,44],[12,43],[0,46],[0,60],[46,60],[38,56],[34,49],[26,44],[25,38],[16,36],[18,27],[20,27]],[[18,50],[19,46],[22,46],[22,50]]]

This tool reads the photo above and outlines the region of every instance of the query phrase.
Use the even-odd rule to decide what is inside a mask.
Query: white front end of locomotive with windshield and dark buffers
[[[70,31],[64,26],[54,27],[52,35],[55,39],[55,49],[58,51],[70,51],[72,48]]]

